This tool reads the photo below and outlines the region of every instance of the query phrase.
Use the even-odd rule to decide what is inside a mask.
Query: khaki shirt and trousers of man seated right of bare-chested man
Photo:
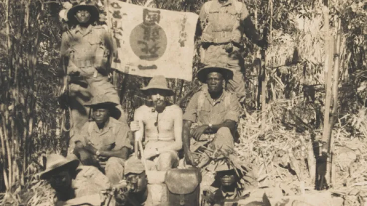
[[[205,92],[205,98],[199,109],[199,99],[203,95],[201,92]],[[235,94],[223,90],[222,96],[217,100],[213,100],[208,91],[200,91],[190,99],[183,119],[197,123],[198,126],[217,125],[222,124],[226,120],[239,122],[240,114],[241,105]],[[209,135],[209,138],[211,137],[212,135]],[[200,140],[205,140],[206,138],[208,138],[208,135],[203,134]],[[211,144],[213,148],[230,149],[235,146],[233,134],[227,127],[220,128],[212,138],[213,141]]]

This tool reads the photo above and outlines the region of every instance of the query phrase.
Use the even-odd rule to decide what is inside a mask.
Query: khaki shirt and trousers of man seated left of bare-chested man
[[[130,135],[127,124],[110,117],[108,125],[102,131],[98,129],[96,122],[86,123],[75,141],[81,141],[83,145],[91,142],[97,150],[118,151],[122,147],[131,148]],[[91,156],[90,153],[85,156],[81,154],[80,158],[84,162],[85,159],[93,158]],[[100,166],[104,167],[106,176],[113,184],[117,184],[122,180],[124,162],[124,159],[118,157],[98,160]]]

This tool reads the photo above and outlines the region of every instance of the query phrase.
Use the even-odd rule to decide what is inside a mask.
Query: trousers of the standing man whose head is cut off
[[[227,52],[225,47],[226,44],[212,44],[206,49],[202,47],[201,63],[206,66],[216,65],[231,69],[234,75],[232,79],[229,79],[227,89],[241,99],[246,96],[243,49],[233,46],[233,50]]]

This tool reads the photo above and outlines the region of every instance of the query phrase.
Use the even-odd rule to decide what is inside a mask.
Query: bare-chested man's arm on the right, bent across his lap
[[[172,112],[172,115],[175,116],[173,126],[175,142],[169,146],[159,147],[159,153],[172,150],[179,151],[182,148],[182,109],[177,106],[177,108],[175,108],[175,111]]]

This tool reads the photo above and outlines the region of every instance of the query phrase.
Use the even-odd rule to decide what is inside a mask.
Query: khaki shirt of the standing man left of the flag
[[[110,51],[110,55],[113,53],[112,37],[103,26],[89,25],[83,31],[77,25],[62,34],[60,55],[69,58],[69,67],[74,64],[83,68],[80,70],[81,75],[93,75],[96,68],[96,51],[101,45]]]

